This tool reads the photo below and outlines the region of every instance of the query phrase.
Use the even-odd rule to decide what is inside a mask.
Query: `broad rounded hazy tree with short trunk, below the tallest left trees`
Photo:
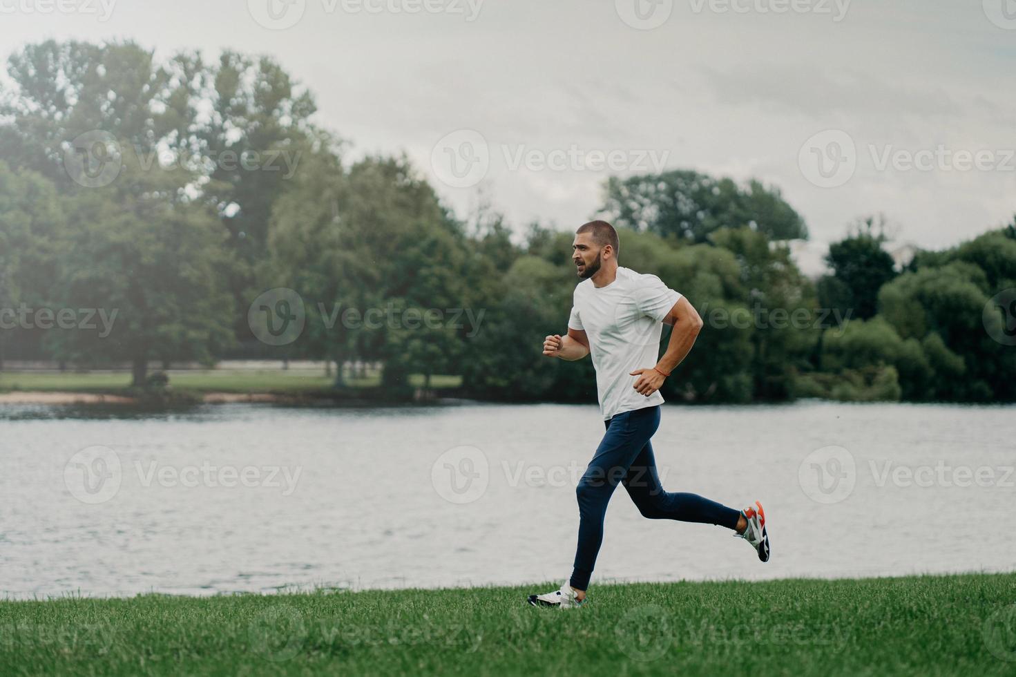
[[[188,183],[182,171],[144,170],[128,155],[116,182],[68,198],[57,303],[115,321],[105,336],[51,334],[55,356],[127,359],[141,386],[148,360],[211,363],[229,345],[234,306],[216,275],[221,230],[206,205],[187,197]]]

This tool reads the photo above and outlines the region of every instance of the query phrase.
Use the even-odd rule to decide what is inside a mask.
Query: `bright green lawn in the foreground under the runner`
[[[1016,674],[1016,574],[0,602],[0,674]]]

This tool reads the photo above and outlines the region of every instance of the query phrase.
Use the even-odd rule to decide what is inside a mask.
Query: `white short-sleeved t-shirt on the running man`
[[[616,414],[663,404],[659,390],[646,397],[632,385],[636,369],[659,361],[662,319],[681,295],[654,274],[618,266],[618,276],[596,289],[587,279],[575,286],[568,326],[583,329],[596,370],[599,411],[607,421]]]

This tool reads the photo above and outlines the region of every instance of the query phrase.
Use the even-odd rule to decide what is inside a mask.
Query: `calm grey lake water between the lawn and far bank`
[[[595,406],[0,409],[0,595],[563,580]],[[1016,408],[664,405],[668,491],[760,499],[772,560],[614,494],[597,580],[1016,566]]]

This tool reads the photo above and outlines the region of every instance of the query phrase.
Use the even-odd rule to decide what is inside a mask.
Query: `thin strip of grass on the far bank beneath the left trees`
[[[332,377],[324,372],[307,370],[261,369],[208,369],[172,370],[170,385],[174,388],[197,392],[287,392],[297,393],[331,387]],[[347,379],[354,387],[376,387],[381,384],[381,374],[368,372],[366,377]],[[47,390],[64,392],[116,392],[130,386],[129,372],[38,372],[2,371],[0,390]],[[437,375],[431,377],[434,388],[456,387],[460,376]],[[409,384],[422,386],[423,374],[410,374]]]

